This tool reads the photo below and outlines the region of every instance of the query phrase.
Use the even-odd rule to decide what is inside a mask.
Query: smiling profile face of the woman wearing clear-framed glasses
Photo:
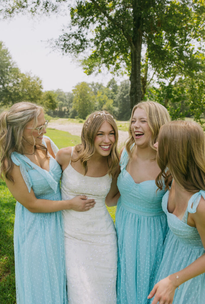
[[[38,124],[37,124],[36,128],[43,126],[43,124],[45,123],[45,118],[44,118],[43,112],[41,112],[39,114],[39,116],[37,117],[37,121],[38,121]],[[34,119],[32,119],[31,121],[29,121],[29,123],[27,123],[27,125],[25,126],[25,129],[23,131],[23,136],[26,139],[28,145],[29,145],[29,143],[31,146],[40,145],[42,143],[43,134],[46,133],[46,130],[44,128],[42,133],[38,134],[38,130],[36,130],[36,129],[26,129],[26,128],[33,128],[33,124],[34,124]]]

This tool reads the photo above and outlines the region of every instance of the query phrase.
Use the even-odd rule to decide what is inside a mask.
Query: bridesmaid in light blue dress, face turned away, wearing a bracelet
[[[160,129],[157,162],[173,183],[162,207],[170,230],[150,292],[152,304],[202,304],[205,299],[205,135],[197,123],[173,121]],[[166,153],[164,152],[166,151]],[[167,168],[169,171],[167,171]],[[158,282],[158,283],[157,283]]]

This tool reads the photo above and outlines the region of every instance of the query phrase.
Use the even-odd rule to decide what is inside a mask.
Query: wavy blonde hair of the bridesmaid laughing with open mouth
[[[143,109],[146,113],[147,123],[152,133],[148,144],[154,151],[156,151],[156,149],[154,148],[153,144],[157,141],[157,136],[159,134],[160,127],[170,121],[170,115],[167,109],[160,103],[153,101],[145,101],[139,102],[137,105],[135,105],[132,110],[131,118],[129,121],[129,140],[126,143],[126,150],[129,155],[129,158],[132,158],[132,152],[135,147],[135,145],[133,145],[135,143],[135,140],[133,138],[131,125],[134,112],[137,108]]]

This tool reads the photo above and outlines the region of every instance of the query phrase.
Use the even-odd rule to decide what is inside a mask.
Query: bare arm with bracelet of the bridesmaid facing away
[[[196,225],[196,228],[200,234],[203,247],[205,248],[205,200],[201,198],[197,207],[197,211],[191,214],[191,217]],[[184,282],[201,275],[205,272],[205,254],[199,257],[196,261],[191,263],[186,268],[169,275],[160,282],[158,282],[153,290],[148,295],[148,299],[154,295],[152,304],[172,304],[175,289]]]

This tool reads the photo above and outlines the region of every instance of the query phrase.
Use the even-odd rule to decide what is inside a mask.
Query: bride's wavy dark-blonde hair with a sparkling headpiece
[[[72,160],[72,161],[80,160],[84,168],[84,175],[88,171],[87,161],[95,153],[95,145],[94,145],[95,137],[97,135],[100,126],[105,121],[111,124],[115,132],[115,142],[113,144],[113,148],[110,153],[111,164],[110,165],[108,164],[108,173],[114,174],[118,166],[119,163],[119,153],[117,151],[118,130],[117,130],[116,122],[113,116],[107,111],[93,112],[86,119],[82,127],[81,144],[77,145],[75,148],[78,157]]]

